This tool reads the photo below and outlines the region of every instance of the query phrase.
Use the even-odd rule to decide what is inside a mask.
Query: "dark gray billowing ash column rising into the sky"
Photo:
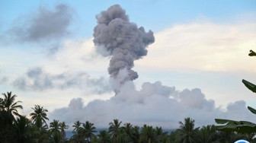
[[[134,60],[146,56],[146,47],[155,41],[153,32],[146,32],[144,27],[138,28],[130,22],[126,11],[120,5],[101,11],[96,18],[98,25],[94,27],[93,41],[103,56],[111,56],[108,68],[110,78],[117,80],[120,85],[138,78],[137,72],[132,70]],[[107,51],[107,55],[106,52],[102,53],[102,49]],[[120,75],[123,70],[126,74]]]

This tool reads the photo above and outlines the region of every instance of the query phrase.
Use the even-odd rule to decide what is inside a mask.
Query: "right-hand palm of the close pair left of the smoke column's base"
[[[94,132],[97,132],[94,129],[96,128],[94,127],[94,124],[91,122],[86,121],[82,124],[82,132],[86,138],[86,142],[91,142],[91,137],[94,136]]]

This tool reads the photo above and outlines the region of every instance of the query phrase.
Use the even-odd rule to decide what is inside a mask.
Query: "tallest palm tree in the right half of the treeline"
[[[183,122],[179,122],[180,128],[178,129],[178,138],[175,141],[184,143],[194,143],[197,142],[197,132],[198,128],[194,128],[194,119],[187,117]]]

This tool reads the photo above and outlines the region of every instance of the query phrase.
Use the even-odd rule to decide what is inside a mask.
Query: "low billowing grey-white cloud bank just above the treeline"
[[[74,112],[75,110],[75,112]],[[93,100],[87,105],[82,98],[74,98],[69,106],[50,113],[50,119],[59,119],[72,126],[73,122],[90,121],[98,128],[106,128],[113,119],[133,125],[162,126],[164,129],[178,128],[178,122],[185,117],[196,120],[197,126],[214,124],[214,119],[252,120],[253,114],[246,109],[245,101],[230,103],[226,111],[206,100],[199,88],[176,91],[157,81],[145,83],[137,91],[133,82],[126,82],[120,94],[110,100]]]

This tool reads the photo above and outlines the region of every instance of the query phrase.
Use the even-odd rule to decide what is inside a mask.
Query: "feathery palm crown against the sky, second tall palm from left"
[[[38,128],[41,128],[43,126],[43,122],[45,123],[45,125],[47,125],[46,119],[49,119],[46,117],[46,112],[48,112],[48,110],[43,109],[43,106],[40,105],[35,105],[35,107],[32,108],[32,110],[34,110],[34,112],[30,113],[30,116],[33,120],[33,123],[35,122]]]

